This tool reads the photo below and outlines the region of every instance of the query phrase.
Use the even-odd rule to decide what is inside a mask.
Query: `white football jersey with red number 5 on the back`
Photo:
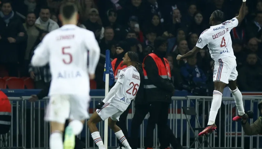
[[[52,75],[49,95],[90,92],[89,74],[95,74],[100,48],[93,32],[64,25],[47,34],[34,51],[31,64],[49,63]]]

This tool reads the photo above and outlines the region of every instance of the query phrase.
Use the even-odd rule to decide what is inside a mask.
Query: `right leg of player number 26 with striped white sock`
[[[114,115],[112,115],[111,117],[108,118],[108,125],[110,127],[110,129],[112,129],[116,135],[116,137],[119,139],[119,141],[121,142],[121,144],[124,145],[125,148],[127,149],[131,149],[124,133],[122,132],[122,130],[116,125],[116,122],[119,120],[119,116],[122,114],[122,111],[118,111],[117,113],[115,113]]]

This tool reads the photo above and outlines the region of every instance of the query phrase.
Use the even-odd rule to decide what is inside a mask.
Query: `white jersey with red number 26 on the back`
[[[140,75],[134,66],[129,66],[120,71],[117,82],[121,84],[121,87],[108,103],[120,111],[125,111],[137,94]]]

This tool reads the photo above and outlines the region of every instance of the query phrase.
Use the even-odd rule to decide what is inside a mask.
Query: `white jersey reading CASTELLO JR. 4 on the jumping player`
[[[230,36],[230,30],[238,25],[238,20],[233,18],[232,20],[227,20],[219,25],[211,26],[202,32],[196,47],[203,48],[208,44],[209,52],[211,58],[217,61],[223,57],[233,57],[234,52],[232,48],[232,41]]]

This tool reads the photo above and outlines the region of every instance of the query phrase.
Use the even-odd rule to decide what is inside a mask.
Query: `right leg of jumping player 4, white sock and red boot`
[[[235,64],[236,67],[236,64]],[[228,87],[234,97],[235,100],[235,105],[237,107],[238,110],[238,115],[235,116],[233,118],[234,121],[238,121],[241,119],[248,119],[248,115],[245,114],[245,110],[244,110],[244,106],[243,106],[243,97],[242,97],[242,93],[240,92],[240,90],[237,88],[236,86],[236,78],[237,78],[237,70],[236,68],[233,69],[230,77],[229,77],[229,84]]]

